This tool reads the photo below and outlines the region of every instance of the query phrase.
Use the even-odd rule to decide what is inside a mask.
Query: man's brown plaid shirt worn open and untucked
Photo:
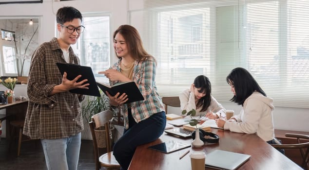
[[[79,59],[70,47],[70,63]],[[80,101],[82,95],[69,91],[49,96],[62,82],[56,63],[66,63],[57,38],[39,46],[31,59],[27,93],[29,104],[23,134],[32,139],[58,139],[74,136],[84,128]]]

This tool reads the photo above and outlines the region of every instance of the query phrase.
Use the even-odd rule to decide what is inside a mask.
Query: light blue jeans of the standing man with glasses
[[[80,133],[60,139],[41,139],[48,170],[77,170]]]

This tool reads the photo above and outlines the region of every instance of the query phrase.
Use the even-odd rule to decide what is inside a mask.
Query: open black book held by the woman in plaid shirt
[[[139,91],[139,89],[138,89],[138,87],[137,87],[137,85],[135,84],[134,81],[121,82],[121,83],[117,83],[113,86],[97,82],[97,86],[99,86],[100,89],[102,89],[102,91],[105,94],[106,94],[106,91],[108,91],[108,93],[112,96],[115,96],[118,92],[120,93],[120,95],[122,95],[123,93],[126,93],[126,95],[128,95],[127,98],[129,100],[125,103],[145,100],[142,93]]]

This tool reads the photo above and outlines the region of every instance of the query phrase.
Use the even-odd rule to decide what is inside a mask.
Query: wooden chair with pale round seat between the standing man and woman
[[[116,161],[111,148],[109,120],[112,118],[113,112],[105,110],[92,116],[92,121],[89,122],[94,143],[96,170],[99,170],[101,167],[108,170],[120,170],[120,165]],[[102,129],[103,127],[104,130]],[[103,143],[105,143],[107,153],[99,156],[99,148],[104,148],[102,140],[105,140]]]

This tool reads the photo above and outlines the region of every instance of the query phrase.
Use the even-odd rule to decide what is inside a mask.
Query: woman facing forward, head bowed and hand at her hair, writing
[[[206,116],[208,119],[217,119],[221,115],[221,119],[225,119],[225,108],[212,97],[211,93],[212,86],[209,79],[204,75],[197,76],[191,88],[179,95],[180,109],[187,112],[195,109],[196,116],[200,118]]]

